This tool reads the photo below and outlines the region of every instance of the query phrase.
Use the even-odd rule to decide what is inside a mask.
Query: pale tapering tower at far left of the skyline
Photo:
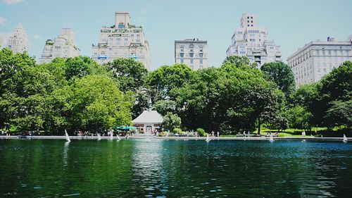
[[[7,40],[7,47],[13,51],[13,53],[23,53],[30,50],[30,42],[25,33],[25,29],[22,23],[19,23],[15,30]]]

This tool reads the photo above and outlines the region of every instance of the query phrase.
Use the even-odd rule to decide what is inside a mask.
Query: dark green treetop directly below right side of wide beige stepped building
[[[112,71],[113,77],[120,82],[122,92],[133,91],[144,86],[148,71],[142,63],[133,58],[117,58],[106,64]]]

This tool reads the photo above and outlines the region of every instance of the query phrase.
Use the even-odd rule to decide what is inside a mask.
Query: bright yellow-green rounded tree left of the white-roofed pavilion
[[[82,129],[92,132],[130,125],[130,108],[134,98],[132,92],[123,94],[118,82],[106,75],[87,75],[70,85],[65,106],[65,115],[72,130]],[[65,92],[64,87],[61,92]]]

